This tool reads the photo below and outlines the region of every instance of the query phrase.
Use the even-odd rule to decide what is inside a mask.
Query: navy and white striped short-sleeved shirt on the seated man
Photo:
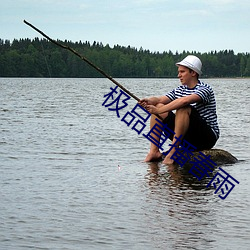
[[[217,122],[216,102],[213,89],[208,84],[198,81],[198,84],[192,89],[188,88],[186,85],[181,85],[167,93],[166,96],[173,101],[191,94],[197,94],[201,98],[201,102],[192,103],[190,105],[198,111],[201,118],[206,121],[207,125],[213,130],[218,139],[220,130]]]

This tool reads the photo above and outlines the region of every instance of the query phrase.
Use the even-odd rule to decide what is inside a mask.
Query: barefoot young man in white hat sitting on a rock
[[[213,90],[199,80],[202,63],[198,57],[189,55],[176,63],[176,66],[182,85],[165,96],[144,98],[139,104],[151,114],[159,115],[162,122],[175,132],[170,137],[173,145],[180,144],[176,138],[182,135],[182,140],[185,139],[196,150],[211,149],[219,138],[219,127]],[[175,114],[173,110],[176,110]],[[151,116],[150,128],[157,122],[155,118],[155,115]],[[160,140],[155,135],[154,138]],[[164,164],[174,163],[171,157],[175,151],[176,148],[172,147],[163,161]],[[161,156],[159,148],[151,143],[145,162],[158,160]]]

